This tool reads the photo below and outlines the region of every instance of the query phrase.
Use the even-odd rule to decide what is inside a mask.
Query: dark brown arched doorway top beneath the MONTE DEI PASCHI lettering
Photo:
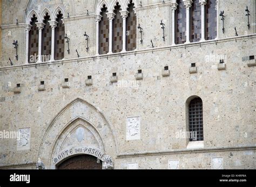
[[[57,169],[102,169],[102,161],[92,155],[77,155],[70,157],[57,166]]]

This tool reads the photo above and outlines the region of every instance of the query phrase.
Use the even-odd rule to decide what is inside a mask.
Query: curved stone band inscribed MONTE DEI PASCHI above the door
[[[62,161],[66,157],[69,157],[71,155],[77,155],[77,154],[89,154],[97,157],[100,160],[102,160],[105,155],[101,150],[94,147],[87,147],[87,146],[71,147],[71,148],[66,148],[62,150],[62,152],[55,155],[53,157],[53,161],[55,162],[55,164],[57,164],[59,161]]]

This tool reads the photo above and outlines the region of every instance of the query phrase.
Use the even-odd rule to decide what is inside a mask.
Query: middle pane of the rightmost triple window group
[[[201,39],[201,5],[199,0],[192,3],[190,8],[190,41],[196,42]]]

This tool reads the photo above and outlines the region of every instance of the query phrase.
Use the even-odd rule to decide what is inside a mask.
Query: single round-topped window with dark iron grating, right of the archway
[[[188,119],[190,133],[190,141],[203,141],[203,101],[200,97],[194,98],[188,105]]]

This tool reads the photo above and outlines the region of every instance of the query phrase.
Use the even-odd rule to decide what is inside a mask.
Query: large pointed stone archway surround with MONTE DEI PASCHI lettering
[[[92,155],[110,169],[117,146],[109,121],[94,106],[76,99],[60,111],[46,130],[38,160],[46,169],[76,155]],[[109,156],[111,155],[111,156]]]

